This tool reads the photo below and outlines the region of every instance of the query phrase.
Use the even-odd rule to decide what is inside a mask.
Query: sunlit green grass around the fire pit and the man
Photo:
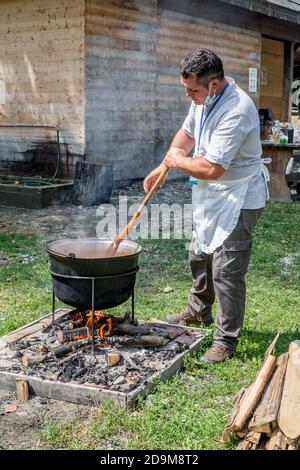
[[[199,362],[200,353],[194,354],[186,359],[183,372],[158,383],[135,411],[105,404],[92,409],[84,423],[46,421],[42,439],[53,448],[69,449],[224,448],[220,437],[232,400],[255,377],[277,331],[281,332],[277,354],[300,337],[299,220],[300,205],[292,203],[269,204],[259,221],[247,275],[245,325],[233,359],[205,367]],[[190,287],[185,242],[154,240],[142,244],[137,317],[163,319],[185,305]],[[1,234],[0,252],[8,257],[6,264],[0,265],[3,335],[51,311],[51,284],[40,238]],[[27,264],[22,262],[26,254],[33,257]],[[174,292],[164,294],[168,285]],[[123,305],[116,310],[124,309]],[[233,442],[227,444],[227,448],[233,446]]]

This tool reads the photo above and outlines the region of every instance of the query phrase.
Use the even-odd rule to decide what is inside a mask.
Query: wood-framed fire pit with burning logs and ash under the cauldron
[[[149,382],[178,370],[184,354],[198,349],[205,336],[196,328],[132,324],[130,314],[94,314],[94,351],[91,312],[78,309],[58,310],[54,322],[50,314],[1,338],[0,387],[15,389],[21,377],[37,395],[77,403],[113,399],[130,406],[146,384],[149,391]],[[72,390],[63,388],[67,385]]]

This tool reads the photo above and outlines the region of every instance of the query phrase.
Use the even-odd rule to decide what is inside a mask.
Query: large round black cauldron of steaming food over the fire
[[[140,245],[124,240],[115,256],[105,252],[112,240],[69,238],[46,244],[54,294],[81,309],[108,309],[132,295]]]

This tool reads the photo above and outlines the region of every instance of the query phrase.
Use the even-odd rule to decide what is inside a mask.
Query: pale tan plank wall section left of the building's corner
[[[0,80],[5,87],[0,124],[59,125],[70,163],[72,156],[82,156],[84,0],[1,1]],[[56,152],[47,142],[54,137],[52,131],[0,127],[0,169],[21,172],[24,161],[43,149],[38,153],[42,159],[45,154],[47,174]]]

